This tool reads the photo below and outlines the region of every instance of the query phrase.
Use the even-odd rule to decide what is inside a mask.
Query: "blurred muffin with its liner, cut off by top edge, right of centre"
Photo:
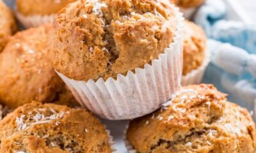
[[[205,3],[205,0],[170,0],[176,6],[179,6],[185,18],[191,18],[198,6]]]

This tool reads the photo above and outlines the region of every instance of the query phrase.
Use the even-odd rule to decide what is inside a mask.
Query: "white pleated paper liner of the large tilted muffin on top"
[[[118,75],[116,80],[108,78],[106,82],[102,78],[97,82],[72,80],[56,72],[81,105],[104,119],[134,119],[154,112],[181,84],[184,18],[178,8],[175,11],[178,24],[173,43],[151,65],[145,64],[143,69],[136,68],[135,73],[128,71],[127,76]]]

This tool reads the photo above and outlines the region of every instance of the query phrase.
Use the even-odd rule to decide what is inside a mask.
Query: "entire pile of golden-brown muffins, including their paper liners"
[[[129,152],[254,152],[250,113],[199,84],[206,36],[177,6],[203,3],[17,0],[15,34],[0,0],[0,152],[115,152],[95,115],[131,119]]]

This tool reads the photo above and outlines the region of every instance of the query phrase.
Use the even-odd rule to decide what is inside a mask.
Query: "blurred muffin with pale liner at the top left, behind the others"
[[[58,11],[76,0],[17,0],[17,18],[25,27],[38,27],[54,20]]]

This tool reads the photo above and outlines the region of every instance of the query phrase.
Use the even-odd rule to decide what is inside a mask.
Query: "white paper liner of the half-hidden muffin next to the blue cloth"
[[[189,72],[187,75],[182,76],[182,86],[199,84],[202,81],[202,78],[204,77],[205,69],[209,65],[210,61],[211,59],[210,59],[209,51],[206,51],[202,66],[200,66],[197,69],[194,69],[193,71]]]

